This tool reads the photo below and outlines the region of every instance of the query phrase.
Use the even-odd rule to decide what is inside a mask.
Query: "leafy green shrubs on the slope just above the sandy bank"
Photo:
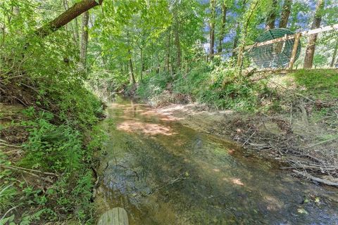
[[[191,96],[193,100],[218,109],[254,111],[259,103],[258,94],[267,91],[264,82],[250,82],[231,65],[195,66],[187,75],[182,73],[171,77],[168,74],[146,77],[139,84],[137,94],[151,99],[160,95],[171,84],[175,93]]]

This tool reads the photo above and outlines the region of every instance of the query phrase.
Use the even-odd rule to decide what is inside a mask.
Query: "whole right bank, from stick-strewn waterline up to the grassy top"
[[[246,153],[277,160],[282,169],[297,176],[338,187],[338,73],[320,76],[251,77],[269,77],[268,86],[277,91],[278,98],[263,101],[278,104],[273,112],[215,110],[202,103],[186,103],[187,98],[182,103],[169,103],[168,97],[163,103],[156,98],[157,104],[149,104],[157,106],[157,113],[172,116],[188,127],[239,142]],[[303,79],[301,85],[295,79]]]

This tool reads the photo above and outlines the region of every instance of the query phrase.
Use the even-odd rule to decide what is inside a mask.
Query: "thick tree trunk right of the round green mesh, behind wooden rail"
[[[322,10],[324,8],[325,1],[318,0],[317,5],[315,6],[315,18],[313,18],[313,23],[311,29],[320,27],[322,22]],[[303,68],[312,68],[313,56],[315,54],[315,41],[317,40],[318,34],[311,34],[308,37],[308,46],[306,47],[305,59]]]

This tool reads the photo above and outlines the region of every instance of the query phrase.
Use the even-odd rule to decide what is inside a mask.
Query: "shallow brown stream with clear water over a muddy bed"
[[[130,224],[338,224],[338,194],[248,157],[234,143],[118,99],[96,207],[124,207]]]

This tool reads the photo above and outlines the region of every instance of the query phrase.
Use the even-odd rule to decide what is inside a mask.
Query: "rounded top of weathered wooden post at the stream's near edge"
[[[125,209],[115,207],[101,215],[97,225],[129,225]]]

